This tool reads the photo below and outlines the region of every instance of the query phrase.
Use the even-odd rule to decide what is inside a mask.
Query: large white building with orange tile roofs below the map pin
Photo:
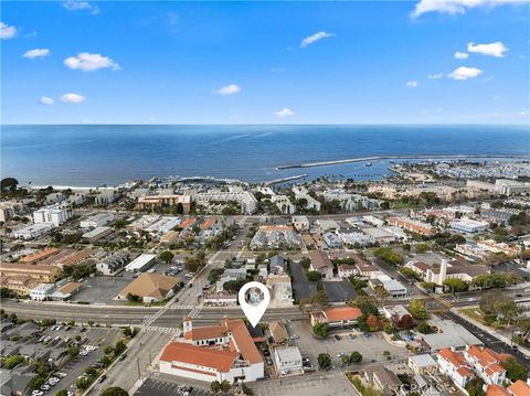
[[[184,319],[184,341],[169,343],[159,361],[161,373],[211,383],[253,382],[265,376],[263,357],[241,319],[194,328]]]

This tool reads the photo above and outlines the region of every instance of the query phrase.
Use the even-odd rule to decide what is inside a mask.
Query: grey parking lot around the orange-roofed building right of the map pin
[[[317,356],[320,353],[329,353],[333,362],[333,367],[340,367],[341,361],[337,355],[339,353],[352,353],[358,351],[362,355],[363,362],[386,362],[383,355],[384,351],[391,353],[392,360],[402,360],[407,356],[405,347],[399,347],[390,344],[383,338],[382,333],[371,333],[370,338],[360,334],[357,331],[337,331],[326,339],[321,340],[312,334],[311,327],[306,321],[292,321],[286,323],[289,335],[298,335],[294,341],[303,355],[307,355],[315,366],[318,366]],[[339,340],[335,335],[339,335]]]

